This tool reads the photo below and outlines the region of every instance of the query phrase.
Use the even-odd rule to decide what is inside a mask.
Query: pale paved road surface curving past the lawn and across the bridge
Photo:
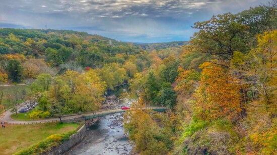
[[[165,109],[165,107],[146,107],[144,109]],[[90,112],[90,113],[84,113],[83,115],[85,116],[91,116],[91,115],[97,115],[97,114],[106,114],[106,113],[117,113],[117,112],[122,112],[124,110],[122,109],[110,109],[110,110],[103,110],[103,111],[96,111],[96,112]],[[0,121],[6,122],[6,123],[15,123],[15,124],[20,124],[20,123],[45,123],[45,122],[51,122],[51,121],[59,121],[59,118],[48,118],[48,119],[43,119],[43,120],[34,120],[34,121],[21,121],[21,120],[14,120],[11,118],[11,115],[13,112],[10,110],[6,111],[2,116],[0,116]],[[73,115],[66,115],[62,116],[62,120],[68,120],[68,119],[74,119],[74,118],[80,118],[82,115],[78,114],[73,114]]]

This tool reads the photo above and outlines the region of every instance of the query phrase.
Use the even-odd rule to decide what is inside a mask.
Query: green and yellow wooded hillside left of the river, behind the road
[[[0,29],[1,109],[17,111],[18,102],[30,100],[39,102],[32,117],[98,110],[107,89],[181,52],[180,47],[146,51],[132,43],[84,32]],[[170,71],[172,66],[164,68]],[[175,64],[174,77],[176,69]],[[1,86],[18,83],[27,87],[8,91]]]

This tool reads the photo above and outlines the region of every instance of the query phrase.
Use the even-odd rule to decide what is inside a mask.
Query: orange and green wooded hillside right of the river
[[[275,154],[277,3],[197,22],[180,56],[135,75],[124,127],[140,154]],[[167,95],[165,95],[167,94]]]

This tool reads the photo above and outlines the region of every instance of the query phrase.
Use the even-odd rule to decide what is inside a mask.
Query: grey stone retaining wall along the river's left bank
[[[56,155],[62,154],[67,150],[70,150],[73,146],[79,144],[85,137],[87,133],[86,125],[84,124],[74,135],[70,137],[70,140],[63,142],[59,146],[52,147],[47,152],[42,153],[43,155]]]

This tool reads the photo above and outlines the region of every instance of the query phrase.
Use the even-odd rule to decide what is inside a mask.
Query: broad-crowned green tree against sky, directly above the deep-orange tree
[[[238,15],[227,13],[213,16],[209,21],[194,23],[193,28],[199,29],[190,41],[194,51],[210,54],[220,60],[230,60],[234,51],[248,51],[243,37],[247,26],[238,23],[238,20]]]

